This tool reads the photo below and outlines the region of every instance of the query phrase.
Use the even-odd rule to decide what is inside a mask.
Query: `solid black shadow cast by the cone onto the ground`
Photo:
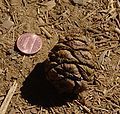
[[[44,63],[37,64],[21,87],[22,98],[31,105],[51,107],[61,106],[73,98],[59,95],[56,89],[46,80]]]

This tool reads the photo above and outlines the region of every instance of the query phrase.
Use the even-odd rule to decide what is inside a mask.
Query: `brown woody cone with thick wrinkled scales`
[[[82,80],[89,80],[95,65],[89,43],[80,36],[66,36],[51,50],[46,62],[46,78],[60,94],[78,94]]]

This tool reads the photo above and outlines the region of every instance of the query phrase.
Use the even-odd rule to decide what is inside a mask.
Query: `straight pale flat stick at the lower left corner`
[[[6,113],[7,107],[8,107],[8,105],[9,105],[11,99],[12,99],[12,96],[15,93],[16,88],[17,88],[17,82],[15,80],[12,87],[8,91],[8,94],[7,94],[6,98],[5,98],[5,100],[3,101],[3,103],[2,103],[2,105],[0,107],[0,114],[5,114]]]

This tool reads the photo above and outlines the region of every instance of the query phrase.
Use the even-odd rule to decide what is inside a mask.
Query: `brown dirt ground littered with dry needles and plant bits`
[[[80,28],[91,41],[100,69],[81,98],[61,102],[41,65],[64,34]],[[70,31],[70,32],[67,32]],[[42,49],[24,55],[16,48],[26,32],[38,34]],[[119,0],[0,0],[0,106],[14,80],[17,89],[6,114],[120,114]]]

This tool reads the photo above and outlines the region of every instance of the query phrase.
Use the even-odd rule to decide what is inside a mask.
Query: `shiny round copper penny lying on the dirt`
[[[42,40],[34,33],[25,33],[18,38],[17,47],[25,54],[35,54],[41,49]]]

